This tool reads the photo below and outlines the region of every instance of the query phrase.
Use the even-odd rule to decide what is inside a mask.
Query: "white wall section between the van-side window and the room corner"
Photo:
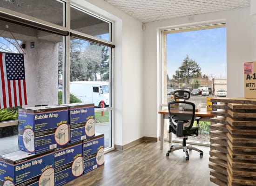
[[[104,0],[71,2],[114,21],[114,144],[124,146],[144,136],[142,24]]]

